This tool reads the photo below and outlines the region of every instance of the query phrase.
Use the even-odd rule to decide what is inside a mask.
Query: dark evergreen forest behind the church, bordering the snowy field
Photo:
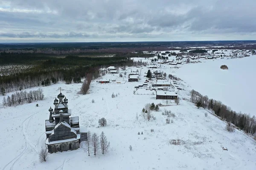
[[[138,55],[138,54],[137,54]],[[127,57],[128,56],[128,57]],[[0,88],[12,92],[35,86],[48,86],[51,83],[65,81],[67,84],[80,83],[90,73],[99,77],[102,66],[130,66],[133,61],[126,57],[79,57],[67,55],[52,57],[32,53],[0,53]],[[5,68],[5,69],[3,69]]]

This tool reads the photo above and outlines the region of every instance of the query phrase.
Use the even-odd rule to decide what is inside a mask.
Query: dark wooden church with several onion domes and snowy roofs
[[[79,117],[70,117],[71,109],[68,109],[68,100],[61,93],[61,88],[57,98],[53,103],[54,110],[52,107],[49,109],[49,120],[45,121],[45,144],[49,153],[76,150],[81,141],[87,140],[87,130],[79,127]]]

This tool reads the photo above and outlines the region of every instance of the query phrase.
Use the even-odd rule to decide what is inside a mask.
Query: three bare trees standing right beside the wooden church
[[[99,151],[102,152],[102,154],[105,154],[108,152],[110,147],[110,142],[107,140],[106,135],[104,132],[102,132],[99,136],[97,133],[90,134],[90,131],[87,132],[87,141],[85,141],[86,147],[84,150],[88,153],[88,156],[90,156],[90,153],[93,152],[94,155],[99,153]]]

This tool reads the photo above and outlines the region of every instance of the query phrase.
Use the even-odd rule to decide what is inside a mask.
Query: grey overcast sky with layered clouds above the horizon
[[[256,40],[256,0],[0,0],[0,43]]]

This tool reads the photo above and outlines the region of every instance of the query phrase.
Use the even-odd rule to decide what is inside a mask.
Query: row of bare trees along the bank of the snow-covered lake
[[[256,133],[256,118],[241,112],[235,112],[230,107],[222,104],[221,101],[209,99],[207,95],[203,96],[195,90],[190,91],[191,101],[199,108],[212,109],[214,113],[221,118],[244,130],[246,133]]]

